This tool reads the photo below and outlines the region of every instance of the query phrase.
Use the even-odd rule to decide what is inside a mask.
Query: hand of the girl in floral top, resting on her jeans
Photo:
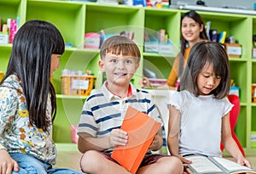
[[[12,174],[19,171],[18,163],[13,160],[5,149],[0,149],[0,174]]]

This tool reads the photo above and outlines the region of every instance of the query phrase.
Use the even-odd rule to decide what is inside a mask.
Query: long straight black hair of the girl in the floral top
[[[47,98],[50,95],[52,121],[55,119],[55,89],[49,81],[51,54],[62,54],[65,43],[55,25],[42,20],[30,20],[15,35],[9,65],[4,79],[15,74],[19,77],[29,121],[48,131]],[[4,80],[3,79],[3,80]]]

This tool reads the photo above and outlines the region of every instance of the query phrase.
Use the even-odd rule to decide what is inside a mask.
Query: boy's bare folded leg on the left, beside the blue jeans
[[[131,174],[124,167],[108,160],[102,154],[90,150],[84,153],[80,166],[88,174]]]

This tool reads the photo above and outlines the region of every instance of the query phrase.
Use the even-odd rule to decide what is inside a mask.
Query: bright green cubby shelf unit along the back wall
[[[8,18],[20,18],[20,25],[27,20],[47,20],[61,31],[66,48],[61,56],[61,65],[55,71],[52,82],[57,93],[57,115],[54,123],[56,143],[71,143],[69,126],[79,122],[79,116],[86,97],[61,95],[61,70],[91,70],[96,76],[96,87],[102,84],[102,72],[98,67],[99,50],[84,49],[84,33],[102,30],[106,34],[134,31],[134,41],[141,53],[141,66],[137,70],[134,84],[143,76],[143,68],[154,70],[159,78],[167,78],[179,49],[180,19],[187,12],[174,8],[141,8],[100,3],[82,3],[61,0],[0,0],[0,17],[3,23]],[[256,17],[246,14],[225,14],[198,11],[204,22],[211,21],[211,27],[227,31],[242,45],[241,58],[230,58],[231,78],[240,87],[241,113],[236,133],[247,153],[256,154],[251,148],[251,132],[256,131],[256,104],[252,104],[251,85],[256,83],[256,59],[252,59],[252,36],[256,34]],[[172,55],[143,52],[144,31],[165,29],[173,45]],[[0,70],[5,71],[11,53],[11,45],[0,45]],[[65,136],[63,136],[65,135]]]

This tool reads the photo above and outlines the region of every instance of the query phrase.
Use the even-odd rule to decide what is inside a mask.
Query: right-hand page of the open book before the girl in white
[[[247,166],[241,166],[238,163],[227,160],[224,158],[219,158],[219,157],[212,157],[215,161],[217,161],[218,164],[224,167],[226,171],[253,171],[252,169],[248,168]]]

